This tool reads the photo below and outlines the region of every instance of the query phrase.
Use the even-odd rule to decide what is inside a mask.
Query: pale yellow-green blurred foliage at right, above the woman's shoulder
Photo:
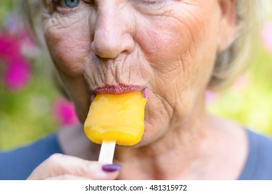
[[[272,135],[272,54],[258,53],[248,73],[208,103],[208,111]]]

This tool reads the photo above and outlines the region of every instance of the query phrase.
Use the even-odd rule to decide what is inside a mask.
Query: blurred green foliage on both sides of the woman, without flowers
[[[12,1],[0,2],[0,27],[11,8]],[[208,111],[272,135],[271,64],[271,53],[259,51],[249,73],[242,76],[244,80],[237,80],[221,94],[212,94]],[[48,79],[50,73],[35,62],[32,68],[30,84],[19,92],[8,91],[0,81],[0,150],[28,143],[59,127],[51,110],[59,94]]]

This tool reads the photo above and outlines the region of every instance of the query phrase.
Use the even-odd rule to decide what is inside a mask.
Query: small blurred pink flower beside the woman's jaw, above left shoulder
[[[53,103],[53,116],[60,125],[74,125],[79,123],[75,114],[75,107],[70,100],[58,98]]]

